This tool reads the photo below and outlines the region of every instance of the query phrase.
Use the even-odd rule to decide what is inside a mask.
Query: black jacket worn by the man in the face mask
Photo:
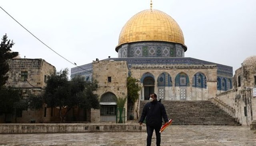
[[[148,102],[144,106],[139,122],[143,122],[145,117],[148,126],[162,126],[162,118],[168,122],[164,105],[158,101]]]

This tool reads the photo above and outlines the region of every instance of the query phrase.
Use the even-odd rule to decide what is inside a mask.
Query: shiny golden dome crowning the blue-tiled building
[[[120,32],[116,51],[124,43],[138,41],[168,41],[186,47],[177,22],[168,14],[155,9],[141,11],[126,22]]]

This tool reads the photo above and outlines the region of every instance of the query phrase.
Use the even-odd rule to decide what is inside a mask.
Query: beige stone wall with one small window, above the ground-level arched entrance
[[[92,78],[98,81],[96,94],[99,96],[99,101],[102,95],[108,92],[119,98],[127,97],[128,67],[126,61],[94,61],[92,65]],[[111,82],[108,82],[108,77],[111,77]],[[124,108],[127,113],[127,102]],[[100,121],[98,118],[100,118],[100,110],[92,110],[92,122]]]

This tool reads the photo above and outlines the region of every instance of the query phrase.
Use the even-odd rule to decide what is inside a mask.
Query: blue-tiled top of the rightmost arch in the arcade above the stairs
[[[193,76],[192,86],[198,88],[206,88],[207,78],[204,73],[198,72]]]

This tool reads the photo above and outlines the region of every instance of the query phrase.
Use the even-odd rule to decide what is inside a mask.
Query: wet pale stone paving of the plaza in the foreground
[[[146,146],[146,132],[0,134],[0,146]],[[249,126],[171,125],[161,146],[256,146]],[[152,146],[156,146],[153,136]]]

